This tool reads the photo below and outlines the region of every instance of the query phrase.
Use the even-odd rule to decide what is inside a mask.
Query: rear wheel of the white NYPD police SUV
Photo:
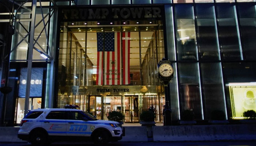
[[[31,134],[30,141],[34,146],[44,146],[47,144],[47,136],[43,132],[35,131]]]

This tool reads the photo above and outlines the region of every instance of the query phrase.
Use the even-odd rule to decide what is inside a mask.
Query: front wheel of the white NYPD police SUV
[[[94,134],[94,143],[95,144],[106,144],[109,142],[110,137],[109,137],[109,133],[105,130],[101,130],[101,131],[97,131]]]

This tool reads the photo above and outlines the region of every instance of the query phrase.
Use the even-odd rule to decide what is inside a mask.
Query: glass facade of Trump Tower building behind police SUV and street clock
[[[125,122],[139,122],[140,112],[147,110],[150,104],[156,108],[155,120],[162,122],[162,107],[166,98],[170,100],[173,120],[179,120],[185,110],[193,111],[196,120],[209,120],[214,110],[222,110],[227,119],[241,119],[243,111],[256,110],[256,104],[250,102],[255,100],[256,93],[255,1],[79,2],[86,9],[86,5],[132,8],[132,4],[148,7],[162,4],[164,17],[161,20],[152,17],[132,18],[129,21],[121,17],[114,21],[96,18],[88,21],[55,20],[54,23],[59,22],[59,26],[54,41],[59,45],[54,48],[57,64],[54,66],[56,97],[53,100],[56,103],[53,107],[76,104],[99,119],[106,119],[110,111],[121,111]],[[43,15],[49,10],[44,8]],[[27,11],[22,9],[22,12]],[[41,16],[39,9],[38,16]],[[30,15],[24,13],[19,18],[30,18]],[[46,16],[45,21],[48,19]],[[39,100],[42,107],[48,102],[45,101],[45,95],[49,94],[45,93],[46,86],[49,86],[46,85],[46,74],[47,77],[52,76],[49,70],[46,71],[49,62],[40,56],[42,52],[49,51],[45,31],[39,36],[43,27],[39,24],[35,30],[38,42],[33,51],[33,62],[43,68],[43,92],[40,97],[31,97],[31,107],[37,105]],[[16,106],[10,112],[15,113],[12,115],[18,123],[23,108],[17,107],[24,106],[24,99],[18,93],[20,81],[14,78],[20,78],[24,65],[19,69],[15,67],[27,61],[26,41],[29,39],[26,34],[30,23],[20,22],[16,28],[19,32],[13,36],[12,48],[17,49],[11,53],[11,63],[15,63],[11,64],[9,84],[17,91],[10,94],[15,97],[12,102]],[[52,32],[51,29],[46,27],[47,32]],[[23,37],[26,37],[25,41],[20,43]],[[174,68],[174,77],[167,91],[158,79],[157,65],[162,58],[169,59]],[[165,97],[167,92],[169,97]]]

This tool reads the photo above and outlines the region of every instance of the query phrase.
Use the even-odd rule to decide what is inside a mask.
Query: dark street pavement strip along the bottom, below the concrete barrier
[[[0,143],[0,146],[31,146],[30,143]],[[94,146],[93,143],[52,143],[50,146]],[[104,146],[256,146],[256,141],[227,142],[114,142]]]

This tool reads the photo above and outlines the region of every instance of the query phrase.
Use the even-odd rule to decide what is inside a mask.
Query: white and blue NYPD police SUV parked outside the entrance
[[[31,110],[21,122],[18,138],[32,145],[54,141],[94,141],[104,144],[122,139],[118,122],[98,120],[77,109],[50,108]]]

